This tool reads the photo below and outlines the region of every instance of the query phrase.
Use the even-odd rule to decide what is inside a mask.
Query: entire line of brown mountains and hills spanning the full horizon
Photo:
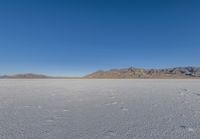
[[[124,68],[96,71],[83,77],[53,77],[42,74],[0,75],[1,79],[48,79],[48,78],[83,78],[83,79],[182,79],[200,78],[200,67],[176,67],[164,69]]]

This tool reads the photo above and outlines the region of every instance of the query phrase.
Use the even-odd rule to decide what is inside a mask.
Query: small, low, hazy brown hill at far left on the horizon
[[[51,78],[50,76],[42,75],[42,74],[33,74],[33,73],[26,73],[26,74],[16,74],[16,75],[2,75],[0,78],[11,78],[11,79],[40,79],[40,78]]]

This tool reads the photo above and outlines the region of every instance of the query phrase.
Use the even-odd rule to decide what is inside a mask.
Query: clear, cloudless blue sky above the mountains
[[[200,1],[0,1],[0,74],[130,66],[200,66]]]

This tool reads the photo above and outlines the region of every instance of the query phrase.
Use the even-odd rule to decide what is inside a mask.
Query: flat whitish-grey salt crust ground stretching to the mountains
[[[172,138],[200,138],[200,80],[0,80],[0,139]]]

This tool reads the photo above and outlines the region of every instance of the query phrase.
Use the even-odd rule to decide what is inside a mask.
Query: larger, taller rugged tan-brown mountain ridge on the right
[[[97,71],[84,78],[111,78],[111,79],[151,79],[151,78],[200,78],[199,67],[176,67],[166,69],[125,68],[109,71]]]

